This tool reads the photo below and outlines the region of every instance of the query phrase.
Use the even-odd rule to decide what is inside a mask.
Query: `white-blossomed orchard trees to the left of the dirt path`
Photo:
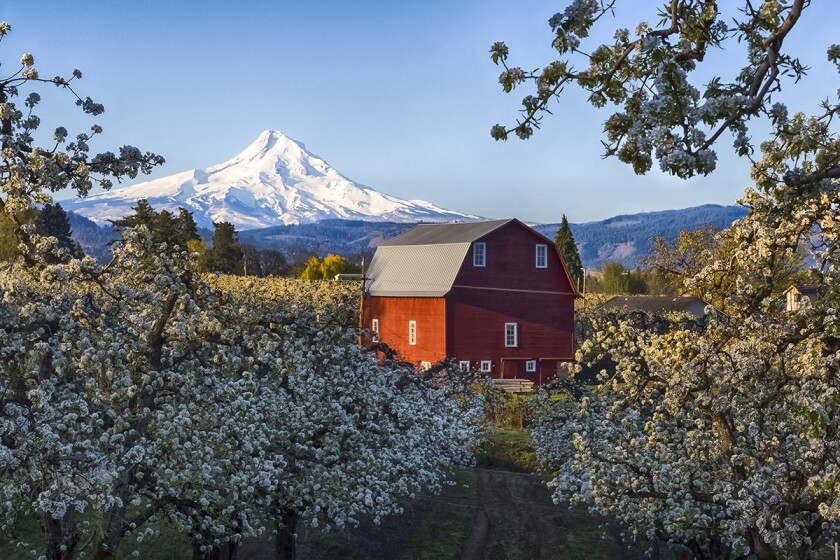
[[[26,112],[8,101],[33,80],[0,79],[12,131],[0,135],[0,217],[19,240],[0,262],[4,539],[33,557],[108,558],[167,519],[195,550],[230,553],[298,519],[377,521],[471,460],[481,403],[366,354],[352,290],[202,278],[194,256],[142,226],[105,266],[37,235],[27,216],[49,192],[85,194],[161,160],[128,146],[88,157],[97,126],[64,151],[63,128],[56,147],[33,145],[37,96]],[[43,534],[21,532],[34,519]]]

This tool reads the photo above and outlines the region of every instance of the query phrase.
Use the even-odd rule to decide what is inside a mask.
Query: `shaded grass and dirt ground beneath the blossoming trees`
[[[343,532],[300,527],[300,560],[569,560],[626,557],[601,522],[551,503],[527,431],[495,428],[478,455],[478,468],[450,473],[454,484],[439,495],[405,504],[405,513],[381,525],[363,521]],[[27,530],[37,533],[37,523]],[[189,542],[161,522],[159,534],[123,543],[118,560],[137,551],[147,560],[187,560]],[[28,558],[0,545],[0,558]],[[251,540],[240,560],[268,560],[273,542]]]

